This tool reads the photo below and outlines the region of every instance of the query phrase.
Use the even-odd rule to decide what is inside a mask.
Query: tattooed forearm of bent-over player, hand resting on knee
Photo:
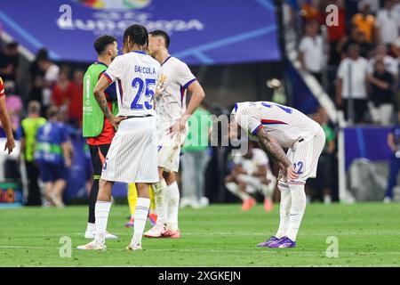
[[[298,178],[299,175],[297,175],[291,161],[287,159],[286,154],[279,143],[277,143],[274,138],[270,137],[263,128],[260,129],[260,131],[257,133],[257,136],[260,139],[261,148],[271,154],[277,162],[281,163],[281,167],[283,167],[281,169],[286,171],[287,178],[289,180]]]

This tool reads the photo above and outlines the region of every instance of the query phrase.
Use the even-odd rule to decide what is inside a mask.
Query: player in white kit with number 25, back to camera
[[[111,190],[118,182],[136,183],[138,199],[132,241],[127,249],[141,249],[148,217],[148,186],[159,181],[157,175],[156,111],[152,97],[156,92],[160,64],[149,56],[148,31],[132,25],[124,31],[124,54],[117,56],[100,77],[94,96],[109,122],[117,128],[99,182],[95,206],[96,237],[79,249],[105,249],[105,233],[111,207]],[[104,91],[116,82],[118,116],[108,109]],[[157,85],[160,87],[160,85]]]

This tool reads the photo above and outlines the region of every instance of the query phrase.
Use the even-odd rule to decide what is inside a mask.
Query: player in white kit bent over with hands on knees
[[[274,102],[236,103],[228,127],[216,122],[212,139],[228,135],[236,138],[241,129],[259,141],[260,147],[276,159],[280,168],[278,188],[281,191],[280,224],[275,236],[259,247],[295,248],[301,219],[306,209],[304,185],[316,177],[316,166],[324,149],[325,134],[316,121]],[[220,132],[219,129],[222,131]],[[251,137],[252,137],[251,136]],[[284,153],[283,148],[289,149]]]

